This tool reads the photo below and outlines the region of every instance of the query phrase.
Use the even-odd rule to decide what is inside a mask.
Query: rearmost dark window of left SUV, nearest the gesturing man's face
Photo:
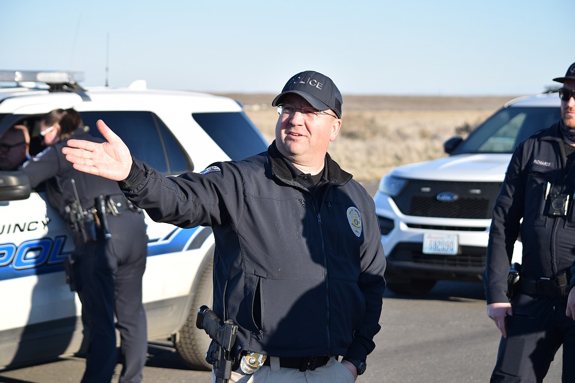
[[[264,152],[267,143],[242,113],[193,113],[194,120],[232,160]]]

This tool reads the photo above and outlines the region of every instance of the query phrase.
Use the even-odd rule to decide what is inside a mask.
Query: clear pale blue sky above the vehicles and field
[[[110,86],[248,93],[312,69],[344,95],[535,94],[575,62],[573,14],[573,0],[0,0],[0,69],[100,86],[108,61]]]

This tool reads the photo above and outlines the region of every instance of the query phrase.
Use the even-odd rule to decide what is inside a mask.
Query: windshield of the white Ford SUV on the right
[[[519,142],[559,118],[559,107],[503,108],[471,132],[451,154],[513,153]]]

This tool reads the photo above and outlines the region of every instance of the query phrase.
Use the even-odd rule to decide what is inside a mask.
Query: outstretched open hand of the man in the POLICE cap
[[[101,119],[96,126],[106,142],[68,140],[69,147],[64,146],[62,153],[74,169],[114,181],[125,180],[132,168],[128,146]]]

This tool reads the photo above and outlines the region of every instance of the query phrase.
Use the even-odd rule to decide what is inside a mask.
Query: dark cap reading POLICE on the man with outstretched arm
[[[283,96],[289,93],[302,96],[316,109],[331,109],[338,118],[342,118],[342,94],[328,76],[315,71],[297,73],[285,84],[271,106],[278,106]]]

